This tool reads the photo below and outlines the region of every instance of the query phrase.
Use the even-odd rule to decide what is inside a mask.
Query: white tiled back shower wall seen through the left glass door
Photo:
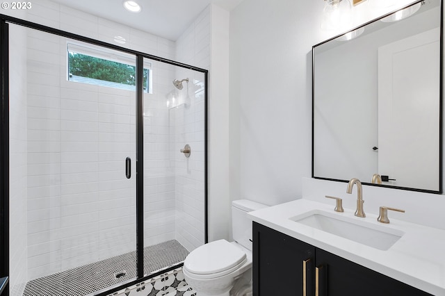
[[[135,249],[134,92],[66,80],[66,41],[28,31],[28,277]]]

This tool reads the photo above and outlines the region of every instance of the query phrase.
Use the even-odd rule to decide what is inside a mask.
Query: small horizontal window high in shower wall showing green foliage
[[[68,81],[136,90],[136,65],[127,54],[108,49],[67,44]],[[151,64],[144,64],[144,92],[152,93]]]

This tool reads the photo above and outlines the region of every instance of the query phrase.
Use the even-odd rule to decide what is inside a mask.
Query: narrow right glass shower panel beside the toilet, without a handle
[[[205,83],[193,69],[148,58],[144,65],[144,272],[153,274],[205,242]]]

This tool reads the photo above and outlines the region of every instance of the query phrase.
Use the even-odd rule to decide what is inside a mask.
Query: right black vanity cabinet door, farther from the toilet
[[[319,296],[430,295],[323,249],[316,249],[316,268]]]

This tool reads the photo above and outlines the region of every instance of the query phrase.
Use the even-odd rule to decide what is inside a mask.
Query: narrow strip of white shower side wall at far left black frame
[[[26,30],[10,27],[10,295],[26,283]]]

